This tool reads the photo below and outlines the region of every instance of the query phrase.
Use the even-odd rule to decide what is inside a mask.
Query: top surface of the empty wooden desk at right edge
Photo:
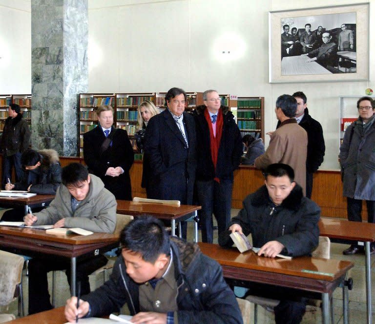
[[[375,242],[375,223],[325,219],[319,221],[321,236],[361,242]]]

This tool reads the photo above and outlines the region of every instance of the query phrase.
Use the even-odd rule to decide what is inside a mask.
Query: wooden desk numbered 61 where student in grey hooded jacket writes
[[[76,234],[46,234],[45,230],[0,226],[0,248],[13,253],[41,257],[42,255],[70,258],[72,296],[76,295],[77,258],[99,255],[118,246],[116,234],[93,233],[83,236]]]

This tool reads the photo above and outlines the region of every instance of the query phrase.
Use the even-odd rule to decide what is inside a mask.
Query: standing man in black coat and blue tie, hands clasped
[[[129,170],[134,152],[124,129],[113,127],[113,108],[99,106],[98,127],[83,134],[83,157],[89,172],[98,176],[116,199],[131,200]]]

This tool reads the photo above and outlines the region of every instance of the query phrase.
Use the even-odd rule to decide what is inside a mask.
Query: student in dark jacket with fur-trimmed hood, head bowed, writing
[[[34,151],[28,149],[21,155],[21,180],[16,183],[6,183],[5,190],[24,190],[40,195],[55,195],[61,183],[61,165],[59,155],[55,150],[47,149]],[[44,207],[33,208],[34,212]],[[24,208],[7,210],[1,221],[21,222],[25,216]]]

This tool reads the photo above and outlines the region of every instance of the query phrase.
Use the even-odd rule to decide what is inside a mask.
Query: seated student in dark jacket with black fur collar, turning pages
[[[302,188],[294,182],[291,166],[270,164],[264,176],[265,185],[245,198],[243,208],[232,218],[228,231],[219,235],[219,244],[231,246],[231,232],[246,236],[251,233],[253,245],[260,247],[259,256],[274,258],[279,253],[292,257],[309,255],[319,242],[320,208],[303,196]],[[306,303],[295,292],[254,283],[249,293],[280,300],[274,308],[276,323],[301,322]]]

